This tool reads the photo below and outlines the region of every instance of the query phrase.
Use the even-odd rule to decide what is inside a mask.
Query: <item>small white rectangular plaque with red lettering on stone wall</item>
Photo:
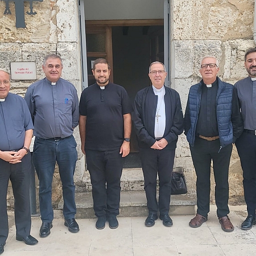
[[[36,80],[36,63],[30,61],[11,62],[11,80]]]

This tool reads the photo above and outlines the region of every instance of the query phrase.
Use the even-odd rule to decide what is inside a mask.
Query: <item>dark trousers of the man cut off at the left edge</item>
[[[7,187],[9,179],[13,186],[16,234],[26,237],[30,234],[30,175],[31,155],[24,155],[21,163],[10,164],[0,159],[0,243],[5,245],[8,237]]]

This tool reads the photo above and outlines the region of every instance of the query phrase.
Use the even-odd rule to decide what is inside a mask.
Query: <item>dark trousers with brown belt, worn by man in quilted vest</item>
[[[197,175],[197,213],[206,217],[210,211],[210,164],[213,162],[217,216],[226,216],[229,213],[228,176],[232,144],[220,150],[220,139],[206,141],[196,137],[195,146],[190,150]]]

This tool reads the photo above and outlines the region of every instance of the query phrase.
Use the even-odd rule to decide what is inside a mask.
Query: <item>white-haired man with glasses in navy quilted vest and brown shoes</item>
[[[237,90],[217,77],[219,70],[216,57],[203,57],[200,66],[203,80],[191,86],[185,110],[185,135],[197,175],[197,213],[189,226],[199,228],[208,220],[213,162],[217,217],[222,230],[232,232],[234,226],[228,217],[229,162],[232,143],[240,137],[243,121]]]

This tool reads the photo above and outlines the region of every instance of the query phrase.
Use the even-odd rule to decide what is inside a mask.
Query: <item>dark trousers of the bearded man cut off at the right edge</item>
[[[255,215],[256,209],[256,136],[242,133],[236,141],[243,169],[243,191],[248,214]]]

